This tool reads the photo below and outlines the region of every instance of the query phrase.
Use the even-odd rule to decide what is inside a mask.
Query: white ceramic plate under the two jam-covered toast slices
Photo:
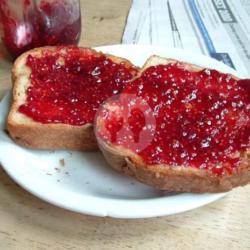
[[[214,59],[183,50],[138,45],[113,45],[97,49],[128,58],[138,66],[150,55],[157,54],[238,75]],[[147,218],[194,209],[225,195],[167,195],[115,172],[99,152],[45,151],[20,147],[4,131],[9,103],[10,94],[0,103],[0,162],[18,184],[54,205],[96,216]]]

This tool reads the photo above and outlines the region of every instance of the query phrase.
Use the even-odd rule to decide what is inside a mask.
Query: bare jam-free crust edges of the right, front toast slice
[[[154,61],[152,63],[152,58],[157,59],[156,56],[149,58],[139,72],[139,76],[149,66],[178,62],[174,59],[160,58],[158,63],[154,63]],[[185,62],[183,65],[188,70],[198,71],[202,69],[197,65]],[[217,193],[250,183],[250,150],[240,155],[240,165],[232,174],[217,176],[207,170],[192,167],[172,167],[166,164],[146,165],[142,158],[131,150],[102,140],[98,136],[98,131],[101,128],[102,120],[97,116],[95,123],[97,142],[110,166],[154,188],[170,192]]]

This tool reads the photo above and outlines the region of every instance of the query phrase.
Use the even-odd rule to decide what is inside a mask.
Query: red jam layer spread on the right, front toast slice
[[[209,69],[190,72],[181,64],[159,65],[128,84],[111,105],[115,108],[104,105],[100,111],[105,120],[99,136],[131,149],[148,165],[231,174],[240,163],[238,153],[250,147],[250,80]],[[145,137],[150,140],[142,147],[136,140]]]

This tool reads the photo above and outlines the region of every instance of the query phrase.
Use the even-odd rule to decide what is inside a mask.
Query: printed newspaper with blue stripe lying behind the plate
[[[250,0],[133,0],[123,43],[183,48],[250,76]]]

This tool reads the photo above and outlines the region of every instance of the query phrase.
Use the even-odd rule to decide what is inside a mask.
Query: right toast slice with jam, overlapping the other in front
[[[203,193],[245,185],[249,88],[250,80],[152,56],[119,98],[100,107],[99,147],[114,169],[157,189]]]

